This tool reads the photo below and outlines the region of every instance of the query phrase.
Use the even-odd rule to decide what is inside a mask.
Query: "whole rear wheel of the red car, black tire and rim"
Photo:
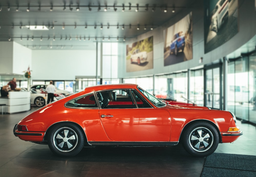
[[[75,156],[84,146],[83,133],[72,123],[57,124],[49,132],[48,146],[58,156]]]

